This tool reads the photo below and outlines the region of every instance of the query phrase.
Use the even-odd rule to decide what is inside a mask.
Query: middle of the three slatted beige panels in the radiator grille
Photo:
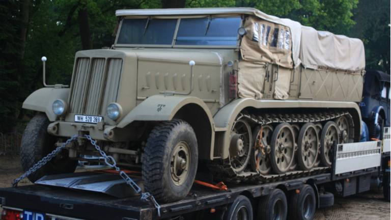
[[[104,76],[104,59],[96,58],[93,59],[92,71],[90,77],[90,88],[86,103],[86,114],[87,115],[98,115],[99,114],[99,97],[102,88],[102,79]]]

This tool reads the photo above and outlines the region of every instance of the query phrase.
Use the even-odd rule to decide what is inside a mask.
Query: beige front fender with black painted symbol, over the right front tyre
[[[133,121],[169,121],[174,118],[181,107],[189,103],[198,104],[202,107],[209,121],[213,124],[212,114],[208,106],[199,98],[154,95],[134,107],[116,127],[124,128]]]

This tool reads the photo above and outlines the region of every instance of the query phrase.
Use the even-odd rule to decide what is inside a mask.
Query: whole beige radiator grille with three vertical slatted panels
[[[70,112],[104,115],[117,100],[122,59],[79,58],[72,82]]]

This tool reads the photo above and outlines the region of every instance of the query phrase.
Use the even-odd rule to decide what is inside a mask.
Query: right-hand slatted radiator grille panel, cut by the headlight
[[[122,59],[110,59],[107,68],[106,88],[103,95],[102,113],[106,112],[106,106],[117,100],[118,86],[122,69]]]

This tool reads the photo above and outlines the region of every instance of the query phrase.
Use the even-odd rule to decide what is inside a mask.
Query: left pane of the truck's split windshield
[[[173,43],[177,19],[124,19],[118,44]]]

